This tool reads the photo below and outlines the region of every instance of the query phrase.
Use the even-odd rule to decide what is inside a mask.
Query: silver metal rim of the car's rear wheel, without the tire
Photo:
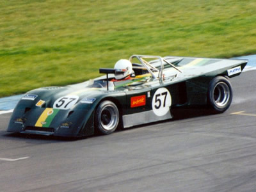
[[[217,83],[214,87],[213,97],[216,105],[225,106],[230,99],[230,88],[226,83]]]

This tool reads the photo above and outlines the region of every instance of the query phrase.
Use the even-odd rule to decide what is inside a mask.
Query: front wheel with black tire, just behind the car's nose
[[[104,100],[95,111],[95,127],[98,134],[111,134],[119,123],[119,111],[116,105]]]

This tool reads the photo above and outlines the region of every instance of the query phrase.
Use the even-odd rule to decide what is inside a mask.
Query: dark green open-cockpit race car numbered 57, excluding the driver
[[[207,106],[223,113],[232,102],[228,78],[238,76],[246,60],[133,55],[132,78],[104,76],[69,86],[26,93],[10,118],[8,132],[55,136],[110,134],[116,128],[171,119],[173,108]]]

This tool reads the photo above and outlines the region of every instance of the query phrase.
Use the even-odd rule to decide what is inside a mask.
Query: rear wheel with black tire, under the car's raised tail
[[[232,97],[232,86],[227,78],[218,76],[209,83],[207,101],[214,113],[226,111],[232,102]]]

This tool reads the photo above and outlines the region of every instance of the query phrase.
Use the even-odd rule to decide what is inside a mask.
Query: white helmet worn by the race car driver
[[[115,67],[115,78],[124,79],[125,77],[132,74],[132,63],[129,60],[119,60],[116,62]]]

